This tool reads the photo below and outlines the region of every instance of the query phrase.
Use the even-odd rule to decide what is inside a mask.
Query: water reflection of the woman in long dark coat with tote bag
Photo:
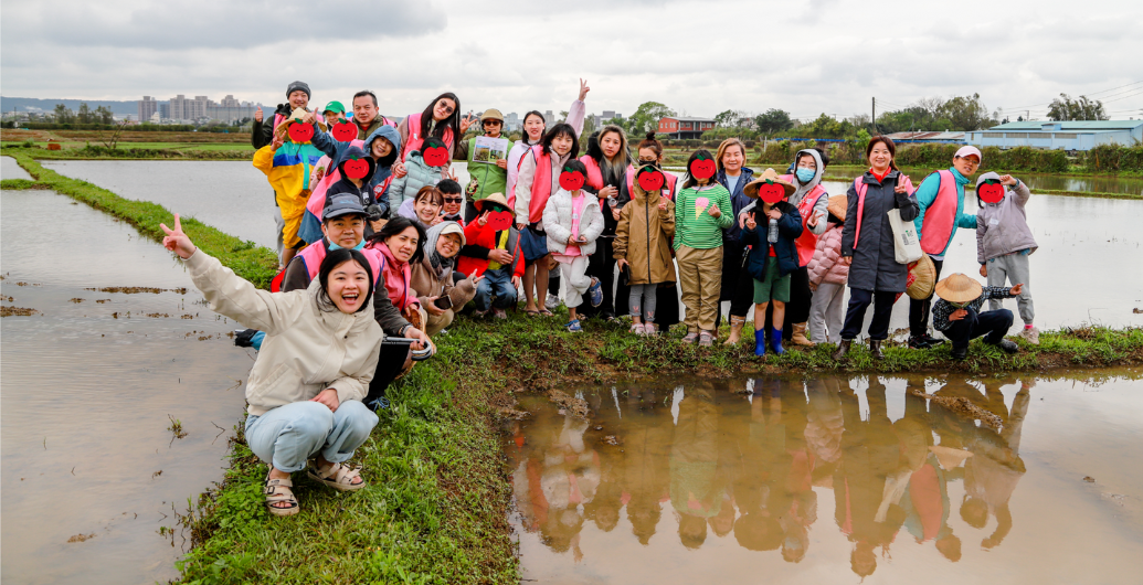
[[[840,388],[845,431],[841,434],[841,464],[833,475],[834,520],[854,543],[849,563],[862,577],[877,569],[877,547],[887,552],[904,520],[898,505],[889,505],[885,521],[877,522],[885,495],[886,478],[898,471],[901,447],[885,401],[885,385],[870,377],[865,398],[869,420],[861,419],[857,394]]]

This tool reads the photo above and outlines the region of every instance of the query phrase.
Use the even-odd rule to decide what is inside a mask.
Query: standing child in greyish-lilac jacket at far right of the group
[[[1012,189],[1008,189],[1012,187]],[[1020,300],[1020,318],[1024,330],[1020,336],[1031,344],[1040,343],[1040,331],[1032,324],[1036,312],[1032,308],[1032,291],[1029,256],[1039,247],[1028,226],[1024,206],[1031,199],[1028,185],[1012,175],[1000,176],[985,173],[976,179],[976,262],[981,263],[981,275],[988,277],[990,287],[1002,287],[1005,280],[1013,285],[1023,283]],[[1000,308],[999,299],[989,300],[989,310]]]

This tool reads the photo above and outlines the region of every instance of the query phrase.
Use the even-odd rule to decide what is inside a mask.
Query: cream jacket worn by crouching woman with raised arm
[[[251,415],[310,400],[326,388],[336,390],[341,402],[369,392],[383,337],[371,306],[351,315],[321,311],[319,279],[305,290],[259,290],[202,250],[185,264],[211,311],[266,334],[246,383]]]

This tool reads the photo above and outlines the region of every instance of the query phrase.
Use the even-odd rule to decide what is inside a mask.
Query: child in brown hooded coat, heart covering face
[[[636,335],[656,335],[653,324],[656,289],[662,282],[674,281],[671,263],[674,202],[670,197],[662,197],[660,191],[642,189],[639,177],[649,173],[661,171],[654,165],[646,165],[636,173],[633,198],[620,211],[613,245],[616,264],[629,274],[631,332]]]

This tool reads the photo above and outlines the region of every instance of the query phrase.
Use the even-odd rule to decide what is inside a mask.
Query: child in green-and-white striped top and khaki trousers
[[[687,307],[685,343],[711,345],[722,287],[722,230],[730,227],[730,192],[714,182],[714,158],[698,150],[687,161],[687,181],[674,203],[674,253],[682,304]],[[660,174],[662,176],[662,174]],[[652,181],[654,175],[645,174]],[[640,186],[655,191],[654,185]],[[728,210],[724,213],[722,210]]]

